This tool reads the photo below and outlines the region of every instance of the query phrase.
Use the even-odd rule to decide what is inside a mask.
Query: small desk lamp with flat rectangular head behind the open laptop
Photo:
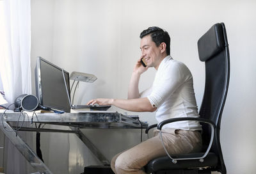
[[[93,74],[87,74],[87,73],[83,73],[83,72],[72,72],[70,74],[70,77],[69,77],[70,80],[74,80],[74,82],[72,83],[72,87],[71,87],[71,90],[70,90],[70,93],[72,91],[72,88],[74,86],[74,83],[77,81],[76,83],[76,87],[74,89],[74,94],[73,94],[73,98],[72,98],[72,104],[74,102],[74,96],[75,96],[75,93],[76,93],[76,88],[79,84],[80,81],[83,81],[83,82],[88,82],[88,83],[93,83],[94,81],[97,80],[97,77]]]

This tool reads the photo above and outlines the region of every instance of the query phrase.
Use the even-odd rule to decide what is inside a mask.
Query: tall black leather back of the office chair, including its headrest
[[[220,122],[228,91],[230,62],[227,34],[223,23],[215,24],[198,40],[200,61],[205,61],[205,91],[200,107],[200,118],[216,124],[214,143],[210,152],[220,154],[218,168],[226,173],[220,146]],[[209,145],[211,129],[202,124],[203,145]]]

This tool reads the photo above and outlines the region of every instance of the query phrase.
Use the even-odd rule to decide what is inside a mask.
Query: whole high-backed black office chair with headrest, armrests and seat
[[[220,145],[220,122],[227,97],[230,63],[227,34],[223,23],[214,24],[197,42],[200,61],[205,62],[205,91],[199,118],[170,118],[156,127],[182,120],[196,120],[202,125],[203,150],[194,154],[173,154],[159,157],[145,166],[147,173],[193,174],[219,171],[226,174]],[[172,158],[172,159],[171,159]]]

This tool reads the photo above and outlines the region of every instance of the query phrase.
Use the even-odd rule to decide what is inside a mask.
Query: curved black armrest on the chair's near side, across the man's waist
[[[167,123],[173,123],[173,122],[180,122],[180,121],[198,121],[198,122],[204,122],[212,125],[214,129],[216,128],[216,125],[211,120],[207,120],[204,118],[198,118],[198,117],[179,117],[179,118],[169,118],[167,120],[164,120],[163,122],[159,123],[157,126],[157,129],[161,130],[163,125]]]

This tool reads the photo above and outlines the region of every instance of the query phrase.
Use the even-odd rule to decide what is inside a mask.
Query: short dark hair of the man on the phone
[[[144,36],[147,36],[147,35],[151,36],[152,41],[156,43],[157,47],[162,42],[164,42],[166,44],[166,53],[167,53],[167,55],[170,55],[171,38],[167,31],[164,31],[163,29],[161,29],[159,27],[150,27],[140,33],[140,38],[143,38]]]

